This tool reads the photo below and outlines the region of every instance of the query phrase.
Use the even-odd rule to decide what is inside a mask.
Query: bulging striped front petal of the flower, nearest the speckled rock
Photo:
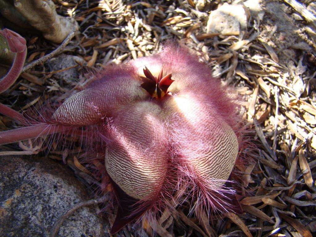
[[[161,108],[139,102],[122,111],[110,125],[106,170],[129,196],[154,199],[167,170],[165,127],[157,119]]]

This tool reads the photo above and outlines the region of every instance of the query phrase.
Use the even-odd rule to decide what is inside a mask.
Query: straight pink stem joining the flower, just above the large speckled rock
[[[42,137],[57,132],[63,132],[71,129],[69,126],[37,124],[24,128],[17,128],[9,131],[0,132],[0,145],[14,143],[30,138]]]

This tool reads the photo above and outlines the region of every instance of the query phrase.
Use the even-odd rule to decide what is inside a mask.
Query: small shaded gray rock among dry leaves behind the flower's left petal
[[[75,66],[78,64],[77,62],[80,64],[85,64],[85,61],[78,56],[61,54],[58,57],[50,59],[47,64],[51,71],[57,71]],[[62,72],[55,73],[54,76],[58,79],[71,83],[78,80],[79,73],[77,68],[71,68]]]

